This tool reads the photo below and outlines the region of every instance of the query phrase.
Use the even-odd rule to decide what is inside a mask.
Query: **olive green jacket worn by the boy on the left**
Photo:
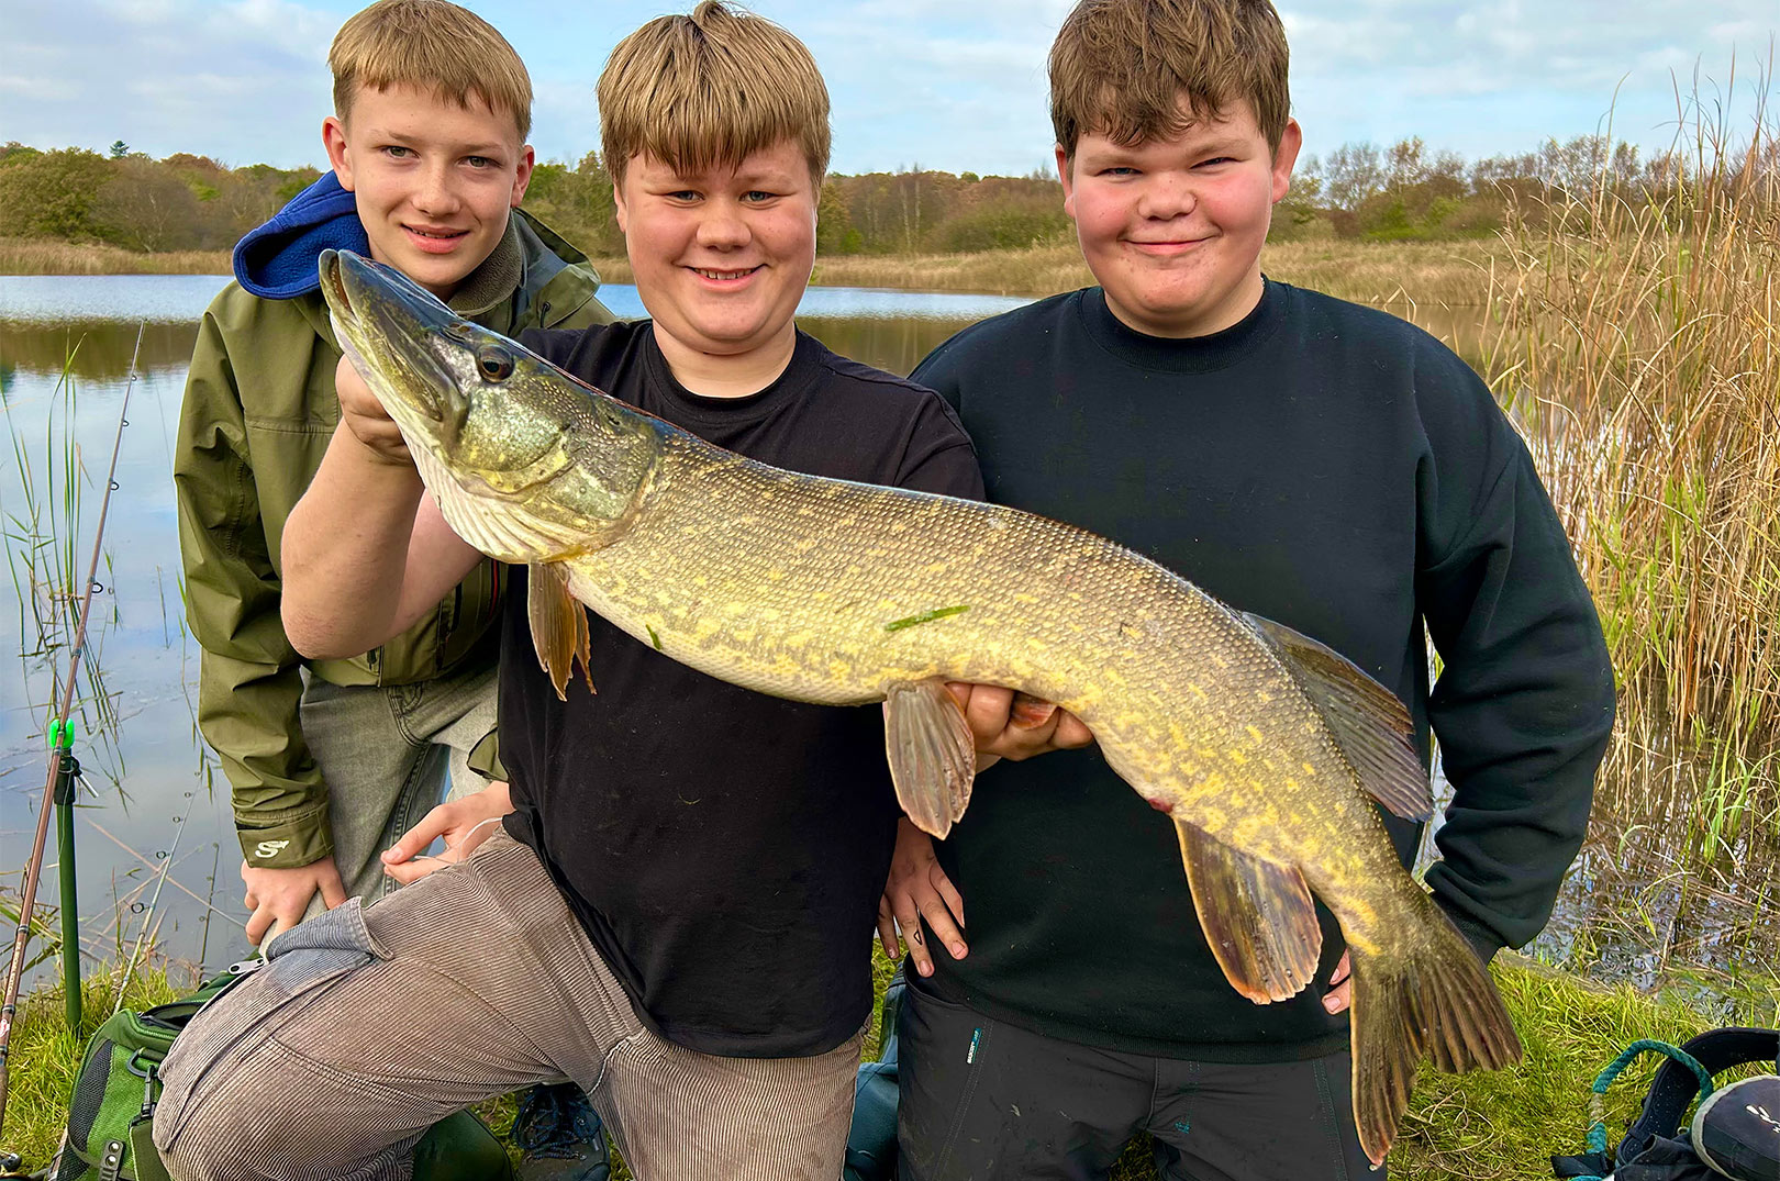
[[[514,210],[495,253],[450,304],[507,336],[587,327],[587,256]],[[333,685],[408,685],[493,662],[500,571],[484,560],[431,615],[352,660],[304,660],[279,619],[279,537],[340,422],[340,347],[319,292],[262,299],[230,283],[192,350],[173,466],[187,619],[198,639],[198,727],[233,786],[253,864],[290,868],[333,852],[328,786],[303,740],[303,669]],[[276,852],[269,852],[276,850]]]

